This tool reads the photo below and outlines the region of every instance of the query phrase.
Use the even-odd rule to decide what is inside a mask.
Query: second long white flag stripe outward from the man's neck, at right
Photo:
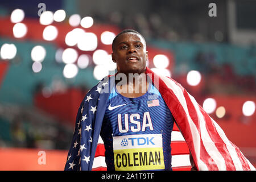
[[[215,146],[213,140],[209,136],[209,133],[208,133],[207,128],[205,126],[206,123],[205,123],[205,120],[204,120],[204,116],[203,116],[203,114],[201,113],[201,111],[199,109],[199,105],[197,104],[194,97],[189,95],[189,98],[191,99],[192,104],[194,105],[194,107],[196,109],[196,113],[197,113],[197,116],[198,116],[198,119],[199,119],[199,122],[200,122],[201,139],[202,139],[202,142],[204,144],[205,150],[209,154],[210,158],[212,158],[214,160],[218,169],[221,170],[221,171],[226,171],[225,160],[224,160],[223,156],[221,155],[220,151],[218,151],[218,148]]]

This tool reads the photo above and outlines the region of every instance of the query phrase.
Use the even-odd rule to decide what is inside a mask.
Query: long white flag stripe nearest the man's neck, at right
[[[192,137],[193,137],[193,144],[195,146],[195,151],[196,151],[195,152],[196,159],[194,159],[194,160],[197,160],[199,170],[205,170],[205,171],[209,170],[207,165],[200,159],[200,150],[201,150],[201,148],[200,148],[200,135],[197,131],[195,123],[192,122],[192,119],[191,119],[190,115],[188,114],[187,103],[185,101],[182,90],[170,78],[163,77],[163,76],[159,76],[159,77],[164,81],[164,83],[167,85],[167,87],[170,88],[174,92],[174,94],[176,95],[177,99],[179,100],[181,106],[183,106],[183,109],[184,109],[185,113],[188,116],[188,123],[189,123],[189,127],[191,128],[191,134],[192,134]]]

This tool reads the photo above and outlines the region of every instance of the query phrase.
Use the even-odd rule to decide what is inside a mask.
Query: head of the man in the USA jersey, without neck
[[[118,73],[143,73],[146,70],[148,54],[141,35],[127,32],[118,36],[112,53]]]

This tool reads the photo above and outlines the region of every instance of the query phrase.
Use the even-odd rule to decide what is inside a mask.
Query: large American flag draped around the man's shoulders
[[[172,168],[189,169],[189,152],[199,170],[255,170],[240,149],[226,138],[224,131],[172,78],[146,74],[158,88],[175,118],[172,131]],[[65,170],[106,169],[104,145],[99,137],[109,93],[114,86],[109,76],[92,88],[82,101],[76,117],[72,144]],[[94,158],[95,157],[95,158]]]

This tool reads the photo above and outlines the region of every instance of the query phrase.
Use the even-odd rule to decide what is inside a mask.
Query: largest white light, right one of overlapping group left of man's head
[[[94,51],[98,46],[98,39],[92,32],[84,32],[81,34],[77,47],[81,51]]]

